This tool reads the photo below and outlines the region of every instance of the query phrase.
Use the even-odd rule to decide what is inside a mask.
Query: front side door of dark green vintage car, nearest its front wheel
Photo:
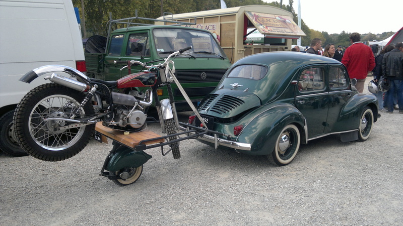
[[[324,133],[333,133],[343,130],[339,126],[342,118],[341,111],[352,97],[352,91],[346,69],[342,65],[329,65],[327,76],[329,81],[329,109]]]

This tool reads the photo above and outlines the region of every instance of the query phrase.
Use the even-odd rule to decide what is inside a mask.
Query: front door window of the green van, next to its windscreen
[[[150,43],[147,33],[129,36],[126,56],[150,56]]]

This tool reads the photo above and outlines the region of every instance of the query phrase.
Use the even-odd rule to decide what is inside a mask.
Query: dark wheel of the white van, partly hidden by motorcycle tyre
[[[14,110],[10,110],[0,118],[0,150],[15,157],[27,156],[28,153],[20,147],[14,134],[13,115]]]

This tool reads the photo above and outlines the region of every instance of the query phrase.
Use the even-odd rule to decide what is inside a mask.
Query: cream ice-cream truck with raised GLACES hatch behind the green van
[[[290,51],[291,41],[305,36],[283,9],[253,5],[185,14],[165,15],[157,20],[193,23],[185,25],[210,31],[231,63],[244,56],[271,51]],[[158,25],[169,25],[156,22]],[[256,31],[260,34],[256,36]]]

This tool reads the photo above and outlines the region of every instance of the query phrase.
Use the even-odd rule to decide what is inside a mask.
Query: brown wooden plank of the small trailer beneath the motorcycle
[[[149,130],[143,130],[142,132],[139,133],[130,133],[129,135],[124,135],[123,131],[113,130],[111,128],[102,126],[102,122],[98,122],[95,125],[95,131],[131,148],[134,148],[136,145],[138,145],[140,141],[161,137],[161,135],[158,135]],[[164,139],[158,139],[155,141],[146,142],[144,144],[155,144],[162,142],[164,142]]]

